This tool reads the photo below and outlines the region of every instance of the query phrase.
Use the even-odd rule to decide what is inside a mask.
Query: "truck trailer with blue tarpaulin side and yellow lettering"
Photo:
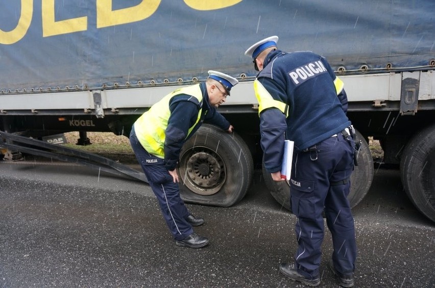
[[[219,108],[236,133],[203,125],[183,146],[178,171],[186,202],[231,206],[262,167],[257,72],[244,51],[277,35],[284,51],[325,57],[345,84],[348,117],[363,142],[351,206],[370,189],[373,137],[382,163],[400,164],[407,195],[435,221],[433,11],[432,0],[3,1],[2,146],[27,152],[31,143],[14,145],[18,137],[71,131],[128,136],[153,103],[218,70],[239,80]],[[291,209],[288,183],[264,169],[263,177]]]

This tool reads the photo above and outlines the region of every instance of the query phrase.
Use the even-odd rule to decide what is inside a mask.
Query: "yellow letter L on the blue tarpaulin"
[[[42,37],[86,31],[88,17],[55,20],[55,0],[42,0]]]

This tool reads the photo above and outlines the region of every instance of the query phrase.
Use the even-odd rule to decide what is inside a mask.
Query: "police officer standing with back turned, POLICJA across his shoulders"
[[[291,204],[298,217],[298,249],[280,272],[309,286],[320,284],[322,212],[332,234],[330,267],[340,284],[353,286],[356,242],[347,196],[355,143],[346,116],[347,95],[325,58],[310,51],[277,49],[277,36],[263,39],[245,54],[260,71],[254,81],[259,102],[264,167],[281,178],[285,139],[295,142]],[[289,193],[290,193],[289,191]]]

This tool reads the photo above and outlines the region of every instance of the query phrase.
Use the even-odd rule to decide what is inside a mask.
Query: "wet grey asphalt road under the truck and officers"
[[[203,249],[175,245],[148,186],[71,165],[0,162],[0,287],[301,287],[278,272],[296,251],[296,217],[260,173],[230,208],[204,217]],[[355,287],[434,287],[435,224],[406,198],[395,169],[378,169],[353,209]],[[320,287],[339,287],[327,261]]]

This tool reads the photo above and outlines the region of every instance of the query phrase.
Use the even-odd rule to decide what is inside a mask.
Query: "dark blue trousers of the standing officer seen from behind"
[[[317,144],[315,150],[293,155],[291,203],[298,217],[295,267],[305,277],[319,275],[323,211],[332,234],[335,269],[343,274],[355,269],[355,228],[347,200],[354,147],[352,138],[345,139],[339,133]]]

